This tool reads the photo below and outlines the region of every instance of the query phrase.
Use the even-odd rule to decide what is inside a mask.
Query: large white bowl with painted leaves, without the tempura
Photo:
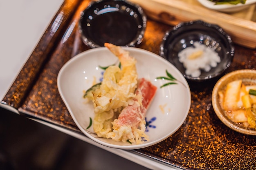
[[[107,48],[99,47],[80,53],[70,59],[58,73],[58,91],[78,128],[90,139],[112,148],[138,149],[156,144],[176,132],[185,121],[190,105],[191,93],[186,79],[172,64],[159,55],[134,47],[122,47],[137,60],[140,77],[150,80],[157,86],[157,93],[146,113],[146,134],[149,141],[142,144],[129,144],[97,137],[91,128],[90,117],[94,118],[92,103],[85,103],[83,91],[90,88],[96,80],[100,82],[102,70],[99,66],[109,66],[117,62]],[[166,70],[177,79],[177,84],[160,88],[169,81],[156,79],[166,76]],[[160,109],[162,106],[163,109]]]

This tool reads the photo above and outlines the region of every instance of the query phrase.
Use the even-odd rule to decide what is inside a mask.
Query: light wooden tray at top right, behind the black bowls
[[[221,13],[202,6],[197,0],[130,0],[140,4],[150,18],[175,25],[204,20],[221,26],[237,44],[256,48],[255,4],[236,13]]]

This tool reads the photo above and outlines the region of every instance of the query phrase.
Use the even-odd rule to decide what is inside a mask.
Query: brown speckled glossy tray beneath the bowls
[[[89,2],[64,1],[2,103],[22,115],[81,132],[63,104],[56,78],[63,64],[89,49],[78,31],[80,12]],[[148,18],[144,40],[137,47],[158,54],[162,37],[171,28]],[[245,68],[256,68],[256,50],[236,45],[227,72]],[[211,106],[215,82],[189,82],[191,109],[181,128],[159,144],[132,152],[187,170],[255,169],[256,136],[235,132],[218,119]]]

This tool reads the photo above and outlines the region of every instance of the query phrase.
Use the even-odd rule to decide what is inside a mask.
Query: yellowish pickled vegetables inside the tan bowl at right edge
[[[253,95],[256,85],[247,84],[242,80],[229,82],[218,92],[220,105],[231,121],[256,130],[256,96]]]

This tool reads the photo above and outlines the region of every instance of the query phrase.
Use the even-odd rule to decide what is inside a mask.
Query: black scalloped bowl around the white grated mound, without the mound
[[[220,62],[216,67],[212,67],[210,71],[201,70],[198,77],[187,75],[186,68],[178,57],[182,50],[194,46],[195,42],[206,45],[220,56]],[[196,20],[182,22],[167,31],[159,53],[178,68],[187,80],[199,82],[222,75],[230,66],[235,49],[231,37],[220,26]]]

